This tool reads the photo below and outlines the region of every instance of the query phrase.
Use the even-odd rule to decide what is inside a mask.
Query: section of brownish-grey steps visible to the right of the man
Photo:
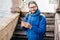
[[[46,35],[44,40],[54,40],[54,29],[55,29],[55,14],[54,13],[45,13],[47,20],[46,25]]]

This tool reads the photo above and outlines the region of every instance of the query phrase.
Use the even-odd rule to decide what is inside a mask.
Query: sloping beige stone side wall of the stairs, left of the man
[[[0,20],[0,40],[10,40],[15,30],[19,14],[10,14]]]

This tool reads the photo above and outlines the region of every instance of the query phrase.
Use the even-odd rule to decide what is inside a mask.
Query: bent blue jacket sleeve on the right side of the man
[[[39,22],[39,27],[33,26],[31,29],[36,33],[45,34],[45,31],[46,31],[46,18],[42,17],[41,21]]]

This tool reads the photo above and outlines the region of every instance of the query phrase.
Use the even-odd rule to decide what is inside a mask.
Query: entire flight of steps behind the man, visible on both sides
[[[54,28],[55,28],[55,14],[54,13],[43,13],[46,16],[46,34],[44,40],[54,40]],[[14,31],[11,40],[27,40],[26,33],[20,27],[21,18],[19,18],[18,24]]]

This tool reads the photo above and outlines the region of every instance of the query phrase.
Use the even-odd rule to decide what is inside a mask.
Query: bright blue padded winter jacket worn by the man
[[[28,40],[43,40],[46,32],[46,17],[40,15],[40,11],[37,9],[35,14],[26,14],[24,21],[32,25],[31,29],[24,28]]]

